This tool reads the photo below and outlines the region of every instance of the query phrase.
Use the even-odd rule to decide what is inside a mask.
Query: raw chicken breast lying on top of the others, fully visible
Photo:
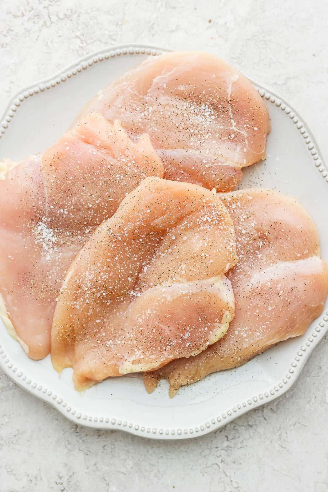
[[[77,389],[198,354],[234,315],[233,223],[218,195],[147,178],[71,265],[51,331]]]

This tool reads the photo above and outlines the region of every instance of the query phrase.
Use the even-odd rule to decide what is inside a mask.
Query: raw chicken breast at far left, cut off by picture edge
[[[75,255],[143,178],[163,173],[147,135],[133,144],[118,122],[92,115],[0,181],[2,317],[31,358],[50,351],[56,298]]]

